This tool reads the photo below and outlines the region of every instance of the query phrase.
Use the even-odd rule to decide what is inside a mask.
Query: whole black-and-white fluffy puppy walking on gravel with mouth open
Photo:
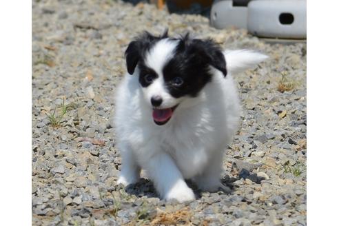
[[[212,40],[160,37],[145,32],[125,51],[128,74],[116,93],[118,183],[136,183],[141,169],[165,200],[194,200],[185,183],[202,190],[221,186],[223,152],[240,119],[232,74],[267,56],[222,52]]]

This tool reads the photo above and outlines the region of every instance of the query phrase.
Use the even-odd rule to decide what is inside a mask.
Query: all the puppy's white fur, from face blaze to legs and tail
[[[172,57],[173,46],[166,41],[154,47],[146,62],[161,74],[165,61]],[[196,98],[174,99],[163,88],[160,75],[152,85],[138,83],[138,67],[126,74],[116,93],[116,136],[122,155],[118,183],[138,181],[140,170],[154,182],[158,194],[166,200],[194,200],[194,192],[185,183],[191,178],[203,190],[220,187],[223,152],[238,129],[240,101],[232,74],[253,68],[266,56],[245,50],[225,52],[227,76],[211,67],[212,81]],[[165,125],[152,119],[150,97],[163,97],[162,107],[180,103]]]

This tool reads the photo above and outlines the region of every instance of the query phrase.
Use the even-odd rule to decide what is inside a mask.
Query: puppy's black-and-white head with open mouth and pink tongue
[[[227,74],[225,56],[212,40],[189,35],[170,38],[145,32],[128,45],[127,71],[138,76],[157,125],[170,121],[176,107],[195,98],[211,81],[211,67]]]

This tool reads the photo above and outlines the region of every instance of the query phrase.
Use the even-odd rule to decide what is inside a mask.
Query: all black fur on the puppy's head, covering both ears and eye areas
[[[147,87],[150,83],[145,81],[147,74],[152,74],[155,78],[158,74],[145,65],[145,54],[161,39],[169,38],[167,30],[159,37],[145,32],[128,45],[125,51],[127,71],[134,73],[136,65],[140,70],[139,83]],[[163,76],[170,94],[174,97],[197,96],[203,87],[211,81],[212,74],[209,66],[223,72],[226,76],[226,62],[220,47],[212,39],[191,39],[187,33],[180,39],[170,38],[179,41],[174,52],[174,56],[163,68]],[[173,79],[181,77],[183,85],[173,85]]]

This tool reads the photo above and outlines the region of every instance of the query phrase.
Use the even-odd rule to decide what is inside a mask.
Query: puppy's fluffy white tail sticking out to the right
[[[230,74],[255,68],[258,63],[269,57],[251,50],[225,50],[223,53],[226,59],[226,69]]]

